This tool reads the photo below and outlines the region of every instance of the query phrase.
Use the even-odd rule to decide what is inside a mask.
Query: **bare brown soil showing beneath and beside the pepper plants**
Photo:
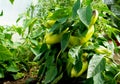
[[[115,53],[113,58],[117,64],[120,64],[120,53]],[[0,84],[25,84],[26,81],[29,81],[29,79],[32,80],[31,82],[29,82],[29,84],[36,84],[37,70],[38,70],[38,67],[34,66],[30,69],[29,73],[26,73],[26,75],[23,78],[21,78],[19,80],[4,80],[2,82],[0,81]],[[75,81],[76,80],[74,80],[74,81],[72,80],[70,84],[74,84]],[[68,81],[66,81],[66,82],[68,82]],[[62,81],[62,84],[65,84],[65,81],[64,82]],[[82,83],[79,82],[76,84],[82,84]],[[120,81],[118,82],[118,84],[120,84]]]

